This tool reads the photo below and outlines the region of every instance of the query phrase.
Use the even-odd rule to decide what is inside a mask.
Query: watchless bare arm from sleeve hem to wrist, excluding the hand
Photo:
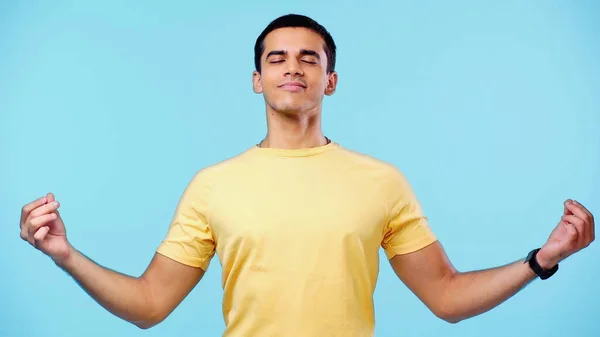
[[[68,260],[57,264],[98,304],[141,329],[162,322],[204,275],[201,268],[158,253],[140,277],[102,267],[74,248]]]

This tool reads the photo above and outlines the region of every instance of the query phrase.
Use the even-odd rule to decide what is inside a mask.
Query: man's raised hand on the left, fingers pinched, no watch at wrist
[[[55,263],[69,258],[70,244],[58,208],[60,204],[52,193],[23,206],[21,211],[21,238]]]

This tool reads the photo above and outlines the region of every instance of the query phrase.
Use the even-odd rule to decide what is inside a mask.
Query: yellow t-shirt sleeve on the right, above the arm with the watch
[[[437,238],[405,176],[394,170],[386,185],[389,216],[382,247],[388,259],[412,253],[435,242]]]

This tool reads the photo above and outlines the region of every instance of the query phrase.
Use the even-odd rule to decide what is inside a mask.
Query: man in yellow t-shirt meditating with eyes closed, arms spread
[[[52,194],[23,207],[21,237],[140,328],[164,320],[216,254],[224,336],[261,337],[371,336],[379,247],[427,307],[455,323],[550,277],[594,240],[592,214],[567,200],[541,249],[498,268],[455,270],[402,173],[322,134],[322,99],[338,80],[335,55],[330,34],[308,17],[283,16],[265,28],[253,88],[264,96],[266,137],[193,177],[140,277],[72,247]]]

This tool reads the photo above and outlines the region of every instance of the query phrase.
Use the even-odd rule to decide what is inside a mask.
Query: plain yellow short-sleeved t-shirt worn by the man
[[[336,142],[254,146],[200,170],[157,251],[222,265],[226,337],[372,336],[379,247],[436,240],[391,164]]]

